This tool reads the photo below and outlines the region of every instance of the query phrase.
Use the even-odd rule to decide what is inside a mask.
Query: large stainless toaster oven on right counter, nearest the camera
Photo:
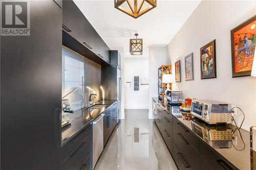
[[[231,105],[211,100],[192,100],[191,114],[204,122],[215,124],[231,124]]]

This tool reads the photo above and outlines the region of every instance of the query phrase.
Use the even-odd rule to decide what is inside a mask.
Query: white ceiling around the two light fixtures
[[[166,45],[201,1],[157,1],[157,7],[135,19],[114,8],[114,0],[74,1],[112,50],[129,53],[129,39],[143,38],[143,48]],[[185,41],[185,40],[184,40]]]

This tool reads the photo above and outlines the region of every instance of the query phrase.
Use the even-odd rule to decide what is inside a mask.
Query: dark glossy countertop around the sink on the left
[[[83,128],[89,125],[98,115],[104,112],[108,107],[114,104],[116,101],[100,101],[96,104],[106,105],[102,109],[86,109],[86,107],[74,111],[74,113],[68,113],[65,117],[72,119],[71,126],[66,130],[62,130],[61,133],[61,145],[66,144],[70,139],[77,135]],[[63,129],[63,128],[62,128]]]

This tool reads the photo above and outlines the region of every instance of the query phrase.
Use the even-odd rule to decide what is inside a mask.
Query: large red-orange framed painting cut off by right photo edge
[[[256,15],[230,31],[232,78],[250,76],[256,44]]]

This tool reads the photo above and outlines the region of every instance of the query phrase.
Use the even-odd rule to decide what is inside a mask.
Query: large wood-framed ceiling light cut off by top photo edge
[[[115,0],[116,9],[134,18],[138,18],[156,6],[157,0]]]

